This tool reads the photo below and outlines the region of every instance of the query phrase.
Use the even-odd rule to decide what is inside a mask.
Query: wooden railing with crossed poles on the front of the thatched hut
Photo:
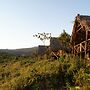
[[[90,39],[74,46],[74,54],[90,51]]]

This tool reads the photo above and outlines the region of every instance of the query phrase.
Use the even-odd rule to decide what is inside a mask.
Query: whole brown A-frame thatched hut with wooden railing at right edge
[[[80,57],[90,56],[90,16],[78,14],[71,35],[73,54]]]

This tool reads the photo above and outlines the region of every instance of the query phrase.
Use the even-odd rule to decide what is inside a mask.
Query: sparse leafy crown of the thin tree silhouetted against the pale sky
[[[33,35],[33,37],[37,37],[37,38],[40,39],[40,40],[43,42],[43,44],[45,45],[46,40],[50,40],[50,38],[51,38],[51,33],[45,33],[45,32],[43,32],[43,33],[38,33],[38,34]]]

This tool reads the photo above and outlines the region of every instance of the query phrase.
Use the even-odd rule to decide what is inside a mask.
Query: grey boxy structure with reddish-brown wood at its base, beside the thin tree
[[[58,59],[60,56],[64,56],[67,49],[62,45],[59,38],[51,37],[50,39],[51,56]]]

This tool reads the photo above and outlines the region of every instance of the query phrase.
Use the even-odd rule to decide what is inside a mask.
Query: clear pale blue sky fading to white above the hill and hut
[[[0,49],[42,45],[37,33],[71,35],[77,14],[90,15],[90,0],[0,0]]]

